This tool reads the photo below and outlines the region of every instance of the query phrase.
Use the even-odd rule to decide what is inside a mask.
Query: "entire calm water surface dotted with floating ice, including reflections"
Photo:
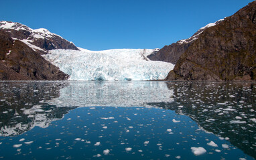
[[[256,83],[1,81],[1,159],[255,159]]]

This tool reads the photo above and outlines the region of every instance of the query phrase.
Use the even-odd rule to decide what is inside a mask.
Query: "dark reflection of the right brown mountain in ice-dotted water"
[[[149,103],[189,115],[208,132],[256,158],[255,83],[168,83],[173,103]]]

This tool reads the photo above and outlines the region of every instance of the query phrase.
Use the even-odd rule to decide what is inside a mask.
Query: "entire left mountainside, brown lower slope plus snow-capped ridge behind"
[[[51,49],[78,48],[46,29],[0,21],[1,80],[62,80],[68,75],[41,55]]]

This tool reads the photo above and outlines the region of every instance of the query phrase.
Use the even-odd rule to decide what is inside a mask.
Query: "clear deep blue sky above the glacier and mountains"
[[[46,28],[90,50],[162,48],[253,0],[12,0],[0,20]]]

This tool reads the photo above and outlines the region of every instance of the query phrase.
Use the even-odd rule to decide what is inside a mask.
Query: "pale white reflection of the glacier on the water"
[[[173,91],[156,81],[70,81],[60,97],[46,101],[63,107],[147,107],[147,103],[172,102]]]

